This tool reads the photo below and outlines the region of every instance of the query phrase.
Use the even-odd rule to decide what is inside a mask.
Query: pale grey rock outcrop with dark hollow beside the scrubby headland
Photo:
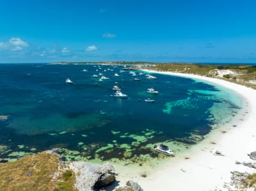
[[[71,162],[70,169],[75,172],[75,186],[80,191],[103,188],[116,181],[116,173],[110,163],[98,165],[87,162]]]

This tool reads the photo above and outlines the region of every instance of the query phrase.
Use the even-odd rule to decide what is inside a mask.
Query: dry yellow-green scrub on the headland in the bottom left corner
[[[49,152],[1,164],[0,171],[1,190],[77,190],[73,171]]]

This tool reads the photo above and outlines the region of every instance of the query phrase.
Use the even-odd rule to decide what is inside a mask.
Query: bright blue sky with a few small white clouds
[[[256,62],[254,0],[0,0],[0,63]]]

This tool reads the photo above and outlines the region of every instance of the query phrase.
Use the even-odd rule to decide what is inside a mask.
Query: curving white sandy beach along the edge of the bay
[[[256,90],[230,83],[229,81],[197,76],[194,74],[156,72],[194,78],[222,85],[241,94],[245,98],[245,108],[236,120],[223,129],[209,133],[206,139],[192,147],[171,162],[165,163],[154,172],[142,178],[139,174],[123,174],[118,180],[134,180],[144,190],[215,190],[223,188],[225,182],[230,182],[230,171],[252,173],[252,169],[235,162],[252,162],[248,153],[256,151]],[[237,125],[237,127],[233,127]],[[212,142],[216,143],[213,144]],[[214,155],[220,151],[223,156]],[[190,159],[184,159],[189,157]],[[122,172],[118,172],[122,174]],[[225,189],[222,189],[225,190]]]

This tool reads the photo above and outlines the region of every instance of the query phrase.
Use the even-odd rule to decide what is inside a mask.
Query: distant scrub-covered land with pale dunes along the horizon
[[[150,71],[169,71],[174,73],[197,74],[220,78],[246,87],[256,89],[255,64],[199,64],[190,62],[52,62],[50,64],[107,64],[124,65],[126,69],[148,69]]]

